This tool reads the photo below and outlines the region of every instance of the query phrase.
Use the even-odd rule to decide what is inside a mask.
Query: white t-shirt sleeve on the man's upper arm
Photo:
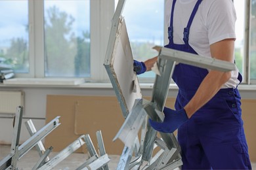
[[[209,44],[236,39],[236,10],[231,0],[215,0],[207,14]]]

